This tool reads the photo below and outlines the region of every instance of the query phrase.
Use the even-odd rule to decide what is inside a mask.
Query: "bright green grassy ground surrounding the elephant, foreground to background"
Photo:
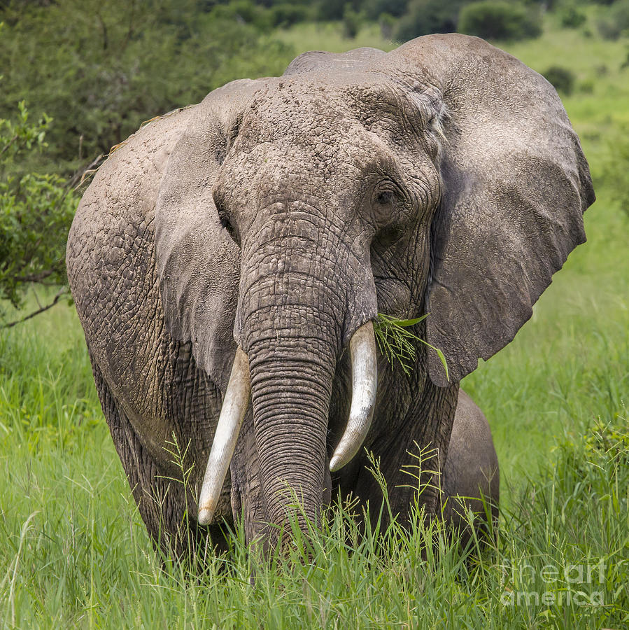
[[[279,36],[352,45],[333,27]],[[495,543],[461,556],[420,519],[361,536],[344,510],[308,549],[257,563],[233,550],[200,575],[162,570],[101,414],[70,305],[0,335],[0,623],[79,628],[626,627],[629,622],[629,213],[605,168],[629,123],[621,41],[549,22],[502,45],[560,64],[598,195],[570,255],[515,341],[465,379],[502,473]],[[386,506],[384,507],[386,509]],[[439,552],[439,561],[433,555]]]

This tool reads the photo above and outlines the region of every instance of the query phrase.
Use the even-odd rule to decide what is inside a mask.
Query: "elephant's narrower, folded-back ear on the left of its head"
[[[238,80],[195,107],[169,158],[155,208],[155,267],[167,328],[222,391],[233,337],[240,250],[220,225],[212,188],[243,111],[267,80]]]

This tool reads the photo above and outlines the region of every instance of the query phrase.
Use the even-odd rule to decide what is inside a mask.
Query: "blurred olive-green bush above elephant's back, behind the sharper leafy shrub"
[[[22,99],[50,114],[47,166],[69,174],[143,120],[234,78],[281,73],[292,51],[221,10],[197,0],[9,2],[0,116]]]

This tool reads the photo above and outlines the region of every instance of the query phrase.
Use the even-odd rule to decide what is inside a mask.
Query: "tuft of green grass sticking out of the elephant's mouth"
[[[395,361],[400,363],[404,374],[410,374],[413,369],[416,358],[416,343],[420,342],[430,349],[434,350],[439,356],[441,365],[446,370],[446,379],[450,380],[448,374],[448,363],[446,363],[446,357],[444,353],[435,348],[432,344],[429,344],[425,339],[418,337],[414,332],[411,332],[409,328],[414,326],[420,321],[425,320],[428,314],[416,317],[414,319],[398,319],[390,315],[383,313],[378,314],[378,318],[374,322],[374,332],[376,333],[376,342],[378,347],[386,356],[391,367]]]

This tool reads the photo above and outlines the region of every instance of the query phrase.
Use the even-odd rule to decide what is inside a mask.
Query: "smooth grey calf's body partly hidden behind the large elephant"
[[[495,524],[500,497],[500,470],[489,424],[472,398],[459,391],[448,457],[444,465],[444,518],[460,531],[462,542],[471,535],[466,512],[472,510],[479,523],[490,509]]]

